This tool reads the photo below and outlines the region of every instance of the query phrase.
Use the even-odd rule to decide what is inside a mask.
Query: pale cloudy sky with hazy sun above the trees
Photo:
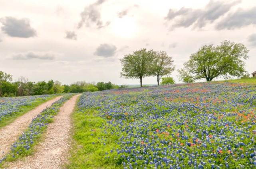
[[[248,48],[256,70],[255,0],[0,0],[0,70],[30,81],[139,84],[120,78],[120,58],[166,51],[176,70],[203,45]],[[156,77],[143,84],[156,84]]]

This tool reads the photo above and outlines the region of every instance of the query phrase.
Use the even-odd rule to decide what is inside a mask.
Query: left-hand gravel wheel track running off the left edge
[[[35,109],[25,113],[18,117],[14,122],[0,129],[0,159],[6,155],[12,144],[19,138],[22,132],[28,128],[32,118],[41,113],[46,107],[52,105],[55,101],[62,96],[56,97],[50,101],[47,101]]]

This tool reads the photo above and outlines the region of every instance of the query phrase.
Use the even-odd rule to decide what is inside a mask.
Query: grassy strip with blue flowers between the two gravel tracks
[[[52,103],[50,107],[44,109],[39,115],[32,119],[27,130],[25,130],[11,147],[11,152],[0,159],[0,163],[6,158],[14,159],[19,156],[30,153],[31,148],[35,145],[36,141],[40,138],[41,134],[47,128],[48,123],[52,122],[54,115],[58,113],[60,107],[67,101],[73,94],[66,94],[59,100]]]

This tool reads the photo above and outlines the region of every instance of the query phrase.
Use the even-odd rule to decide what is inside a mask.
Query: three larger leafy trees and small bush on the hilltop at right
[[[178,69],[179,80],[192,83],[214,78],[248,77],[245,70],[245,60],[248,59],[248,49],[241,43],[223,41],[220,45],[204,45],[196,53],[191,54],[184,67]],[[153,51],[145,48],[134,51],[120,59],[123,66],[121,77],[142,79],[147,76],[156,76],[157,85],[163,76],[175,70],[174,60],[165,51]],[[168,80],[167,80],[168,79]],[[174,83],[173,78],[166,77],[162,84]]]

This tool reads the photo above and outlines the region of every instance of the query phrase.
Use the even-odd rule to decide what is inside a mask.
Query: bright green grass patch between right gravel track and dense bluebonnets
[[[121,169],[121,163],[103,159],[105,152],[118,146],[118,139],[114,134],[104,134],[101,128],[106,120],[97,117],[97,110],[87,109],[85,112],[76,111],[72,115],[73,143],[70,150],[71,157],[67,169]],[[91,134],[93,131],[93,134]],[[105,145],[97,138],[104,137]],[[115,145],[116,144],[116,145]],[[110,154],[109,154],[110,155]],[[111,154],[112,156],[113,154]],[[110,158],[113,159],[113,158]],[[118,165],[119,164],[119,165]]]

